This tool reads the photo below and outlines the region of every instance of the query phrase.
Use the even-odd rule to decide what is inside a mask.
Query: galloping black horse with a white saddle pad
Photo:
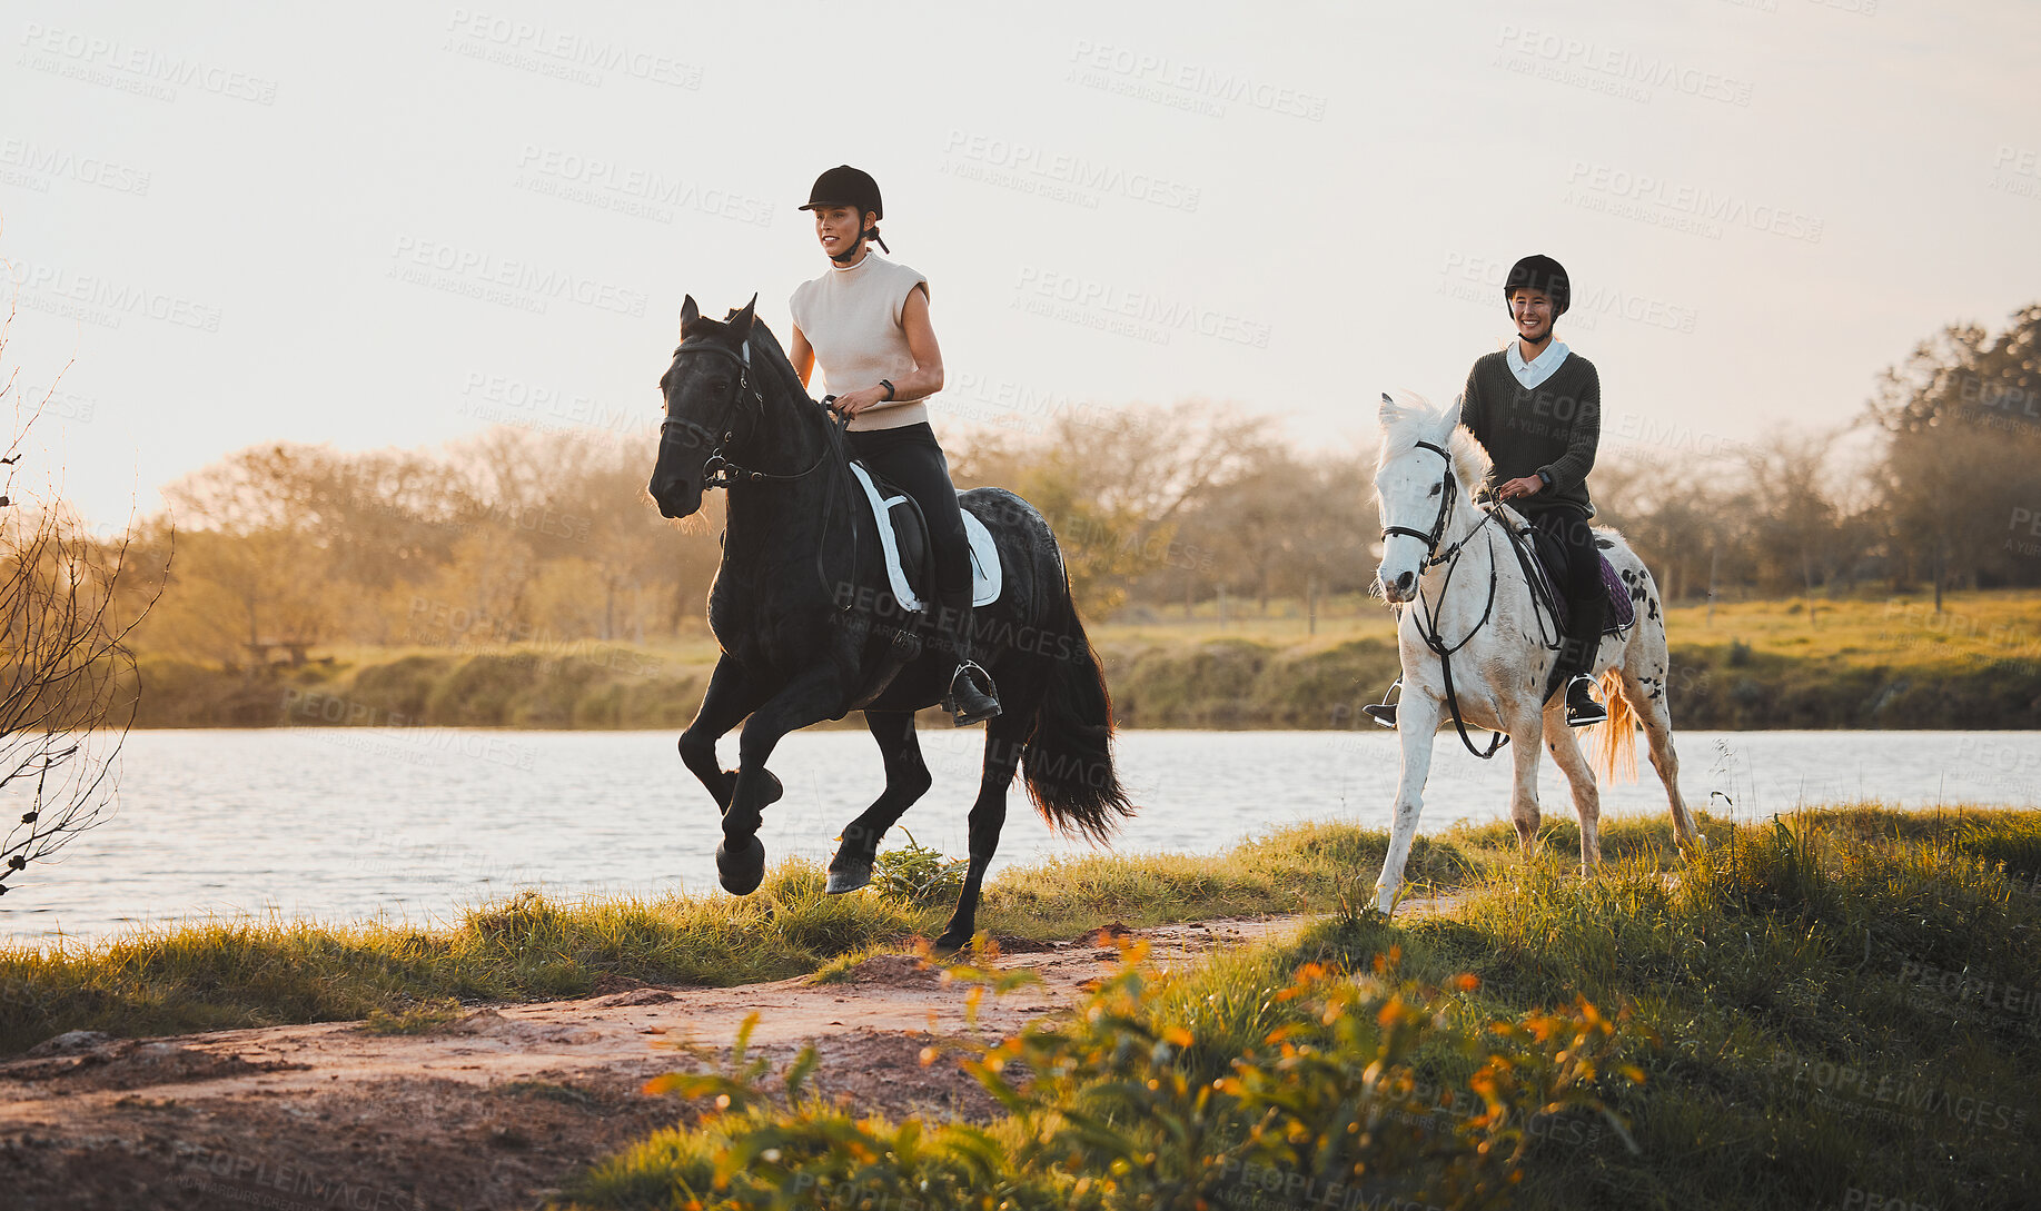
[[[755,304],[716,323],[690,296],[680,347],[659,378],[665,423],[651,474],[659,513],[688,517],[706,488],[729,490],[723,566],[708,592],[723,658],[680,737],[680,758],[723,809],[723,886],[747,894],[765,876],[759,813],[782,792],[765,770],[774,745],[810,723],[863,711],[886,760],[886,790],[843,829],[829,864],[829,890],[847,892],[872,880],[880,837],[929,790],[914,711],[949,688],[955,656],[920,643],[920,617],[894,600],[843,431],[808,398]],[[976,931],[1016,768],[1055,829],[1104,841],[1133,815],[1112,768],[1112,703],[1055,533],[1000,488],[974,488],[959,502],[998,545],[1000,598],[974,611],[972,629],[974,656],[992,672],[1004,711],[986,725],[969,870],[941,950]],[[716,739],[745,717],[737,770],[723,770]]]

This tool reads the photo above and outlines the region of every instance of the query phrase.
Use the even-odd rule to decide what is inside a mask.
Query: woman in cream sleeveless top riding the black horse
[[[943,390],[929,280],[865,247],[886,247],[878,229],[886,206],[869,174],[847,163],[825,172],[802,210],[814,210],[831,268],[794,290],[788,359],[802,386],[823,366],[831,406],[849,417],[851,451],[920,506],[935,564],[935,629],[957,662],[943,707],[959,727],[982,723],[1000,703],[992,676],[972,660],[972,547],[949,462],[929,427],[929,396]]]

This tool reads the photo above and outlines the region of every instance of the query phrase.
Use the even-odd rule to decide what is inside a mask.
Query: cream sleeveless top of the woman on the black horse
[[[865,251],[849,270],[831,265],[827,274],[794,288],[794,327],[808,337],[814,364],[831,394],[900,382],[914,370],[900,312],[914,286],[929,280],[900,261]],[[929,400],[880,400],[851,417],[851,429],[898,429],[929,419]]]

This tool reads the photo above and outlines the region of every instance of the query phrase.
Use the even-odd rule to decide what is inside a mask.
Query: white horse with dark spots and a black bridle
[[[1504,525],[1525,535],[1523,515],[1504,504],[1482,506],[1476,492],[1488,478],[1488,451],[1459,425],[1459,408],[1433,408],[1416,396],[1382,396],[1382,453],[1376,459],[1376,502],[1382,517],[1382,594],[1402,604],[1396,627],[1402,653],[1402,780],[1390,852],[1376,880],[1376,905],[1388,913],[1402,888],[1404,862],[1425,805],[1431,745],[1445,723],[1465,739],[1465,727],[1486,727],[1510,741],[1514,784],[1510,819],[1525,858],[1537,847],[1539,743],[1574,788],[1580,813],[1580,870],[1600,864],[1600,792],[1580,741],[1565,721],[1565,696],[1545,688],[1559,656],[1557,619],[1539,598],[1510,547]],[[1588,674],[1602,678],[1610,703],[1602,733],[1604,770],[1612,776],[1629,758],[1633,729],[1643,723],[1651,766],[1665,782],[1674,835],[1696,843],[1694,817],[1680,798],[1680,760],[1672,747],[1665,705],[1665,613],[1657,584],[1631,545],[1610,529],[1596,531],[1608,562],[1631,590],[1637,623],[1627,635],[1604,635]],[[1500,743],[1500,741],[1498,741]],[[1472,749],[1472,739],[1467,741]],[[1490,747],[1494,754],[1494,747]]]

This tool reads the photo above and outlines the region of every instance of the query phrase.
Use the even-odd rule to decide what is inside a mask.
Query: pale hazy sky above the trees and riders
[[[1531,251],[1604,443],[1665,449],[2041,298],[2033,0],[6,10],[6,366],[71,361],[41,435],[96,521],[259,441],[651,421],[684,294],[786,333],[843,161],[951,445],[1190,398],[1370,445]]]

